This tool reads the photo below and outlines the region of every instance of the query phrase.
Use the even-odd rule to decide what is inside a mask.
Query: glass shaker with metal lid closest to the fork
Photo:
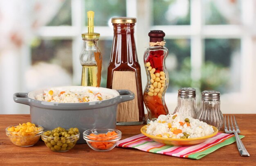
[[[202,92],[201,108],[197,118],[220,130],[223,124],[223,115],[220,111],[220,92],[214,90]]]

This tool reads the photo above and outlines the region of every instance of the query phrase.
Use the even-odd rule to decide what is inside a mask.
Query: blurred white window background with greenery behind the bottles
[[[80,85],[81,33],[87,32],[89,10],[95,12],[94,32],[101,34],[98,42],[103,56],[101,87],[106,87],[112,47],[111,18],[136,17],[135,38],[143,89],[146,85],[143,54],[148,47],[148,32],[158,29],[166,33],[169,86],[165,100],[170,113],[176,107],[177,90],[181,87],[196,88],[198,103],[203,90],[219,91],[223,113],[256,113],[256,104],[252,102],[256,90],[254,0],[46,0],[44,3],[11,0],[1,3],[0,16],[10,14],[11,19],[2,19],[8,24],[0,27],[1,34],[10,34],[9,41],[0,42],[0,92],[7,94],[0,101],[0,114],[29,114],[28,106],[12,100],[15,92]],[[21,21],[21,17],[26,19]],[[16,20],[19,24],[13,23]],[[11,28],[13,25],[20,27]]]

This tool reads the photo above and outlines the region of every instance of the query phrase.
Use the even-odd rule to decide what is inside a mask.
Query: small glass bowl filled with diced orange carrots
[[[83,132],[83,139],[94,151],[110,151],[121,139],[122,132],[117,129],[89,129]]]

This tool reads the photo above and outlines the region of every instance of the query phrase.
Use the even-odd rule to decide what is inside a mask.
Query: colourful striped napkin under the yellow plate
[[[240,138],[245,137],[239,135]],[[159,142],[155,142],[143,134],[126,138],[117,143],[117,147],[135,148],[141,151],[160,153],[175,157],[185,157],[191,159],[200,159],[209,153],[216,151],[222,146],[226,146],[236,142],[234,134],[218,133],[214,137],[193,146],[169,146]]]

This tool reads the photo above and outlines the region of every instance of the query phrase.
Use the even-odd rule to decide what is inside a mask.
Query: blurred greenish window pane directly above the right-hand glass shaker
[[[201,90],[240,91],[240,39],[205,39]]]

